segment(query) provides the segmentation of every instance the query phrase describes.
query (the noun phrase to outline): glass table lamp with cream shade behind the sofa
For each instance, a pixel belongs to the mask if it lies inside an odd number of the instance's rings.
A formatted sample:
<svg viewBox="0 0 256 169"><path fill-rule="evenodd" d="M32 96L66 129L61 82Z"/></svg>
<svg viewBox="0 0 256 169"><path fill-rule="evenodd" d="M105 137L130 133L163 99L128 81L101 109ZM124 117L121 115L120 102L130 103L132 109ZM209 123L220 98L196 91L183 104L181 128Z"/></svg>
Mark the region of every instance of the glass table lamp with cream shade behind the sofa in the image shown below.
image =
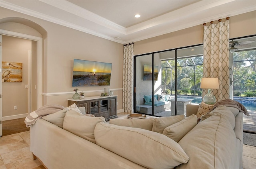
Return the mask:
<svg viewBox="0 0 256 169"><path fill-rule="evenodd" d="M216 98L212 95L211 89L220 88L218 78L202 78L200 88L208 88L208 93L204 96L203 101L206 104L214 104Z"/></svg>

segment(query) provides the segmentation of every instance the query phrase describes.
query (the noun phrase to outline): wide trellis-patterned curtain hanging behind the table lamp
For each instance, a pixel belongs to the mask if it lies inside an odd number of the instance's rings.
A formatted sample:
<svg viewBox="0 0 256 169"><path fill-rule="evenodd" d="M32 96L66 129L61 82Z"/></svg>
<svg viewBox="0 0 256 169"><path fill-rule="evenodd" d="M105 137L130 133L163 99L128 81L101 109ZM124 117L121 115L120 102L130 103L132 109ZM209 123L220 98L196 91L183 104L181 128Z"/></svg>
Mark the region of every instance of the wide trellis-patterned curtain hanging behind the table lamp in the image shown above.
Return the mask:
<svg viewBox="0 0 256 169"><path fill-rule="evenodd" d="M216 102L229 95L229 22L204 24L203 77L218 77L220 89L213 89ZM204 89L203 96L207 93Z"/></svg>

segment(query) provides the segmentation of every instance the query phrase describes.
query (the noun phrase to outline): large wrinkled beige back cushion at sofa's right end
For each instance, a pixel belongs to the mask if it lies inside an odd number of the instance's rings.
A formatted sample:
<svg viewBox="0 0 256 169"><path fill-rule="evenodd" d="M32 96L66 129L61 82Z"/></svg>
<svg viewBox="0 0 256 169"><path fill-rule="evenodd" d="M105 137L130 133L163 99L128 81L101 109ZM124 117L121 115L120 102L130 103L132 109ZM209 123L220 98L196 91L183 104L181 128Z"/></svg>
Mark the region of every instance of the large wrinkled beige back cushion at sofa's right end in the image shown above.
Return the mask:
<svg viewBox="0 0 256 169"><path fill-rule="evenodd" d="M214 114L198 123L179 141L190 157L187 164L176 169L238 168L236 136L226 116Z"/></svg>

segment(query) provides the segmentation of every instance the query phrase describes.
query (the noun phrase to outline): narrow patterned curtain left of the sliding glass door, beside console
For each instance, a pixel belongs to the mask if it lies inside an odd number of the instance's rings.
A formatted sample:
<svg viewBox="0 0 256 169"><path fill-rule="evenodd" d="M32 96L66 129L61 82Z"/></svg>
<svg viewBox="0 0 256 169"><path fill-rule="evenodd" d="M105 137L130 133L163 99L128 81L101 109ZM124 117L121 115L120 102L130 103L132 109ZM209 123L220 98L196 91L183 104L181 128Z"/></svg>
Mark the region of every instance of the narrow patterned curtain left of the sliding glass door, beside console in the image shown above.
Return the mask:
<svg viewBox="0 0 256 169"><path fill-rule="evenodd" d="M133 43L124 45L123 60L123 108L133 113Z"/></svg>

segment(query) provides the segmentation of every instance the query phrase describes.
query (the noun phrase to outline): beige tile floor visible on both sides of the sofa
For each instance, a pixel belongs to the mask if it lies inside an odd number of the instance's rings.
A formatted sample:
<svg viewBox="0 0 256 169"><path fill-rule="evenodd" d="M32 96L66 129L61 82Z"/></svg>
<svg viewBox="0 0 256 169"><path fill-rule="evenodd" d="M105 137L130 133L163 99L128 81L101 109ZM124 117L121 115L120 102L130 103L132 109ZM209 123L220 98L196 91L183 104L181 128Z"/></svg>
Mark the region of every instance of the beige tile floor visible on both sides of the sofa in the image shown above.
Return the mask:
<svg viewBox="0 0 256 169"><path fill-rule="evenodd" d="M3 136L0 138L1 169L45 169L33 160L30 152L30 131ZM243 146L243 169L256 169L256 147Z"/></svg>

